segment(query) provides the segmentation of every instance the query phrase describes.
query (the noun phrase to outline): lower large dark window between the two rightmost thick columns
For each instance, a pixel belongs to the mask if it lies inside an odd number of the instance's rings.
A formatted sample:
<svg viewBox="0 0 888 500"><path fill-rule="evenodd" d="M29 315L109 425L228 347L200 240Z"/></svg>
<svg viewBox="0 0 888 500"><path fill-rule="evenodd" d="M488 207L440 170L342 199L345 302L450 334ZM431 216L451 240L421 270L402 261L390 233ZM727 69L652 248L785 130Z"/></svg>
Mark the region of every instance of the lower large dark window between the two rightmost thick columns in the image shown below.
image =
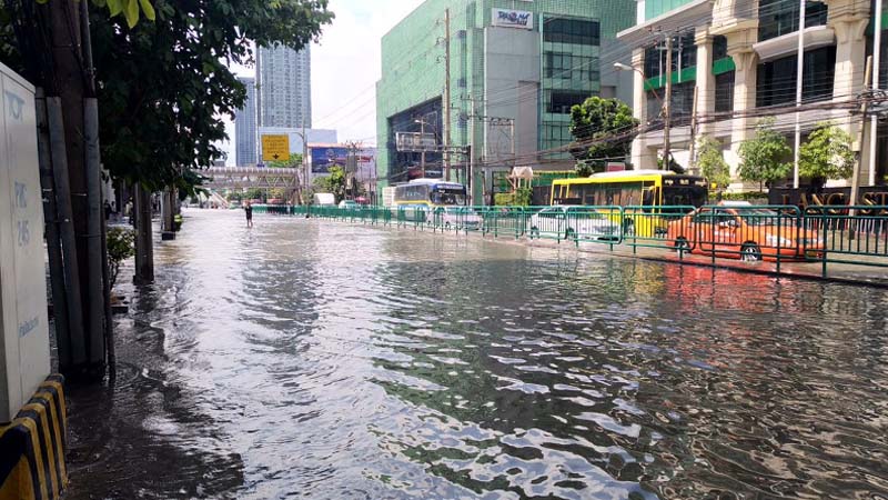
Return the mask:
<svg viewBox="0 0 888 500"><path fill-rule="evenodd" d="M798 58L789 56L758 66L756 106L767 107L795 102ZM833 98L836 74L836 48L805 52L801 99L806 102Z"/></svg>

